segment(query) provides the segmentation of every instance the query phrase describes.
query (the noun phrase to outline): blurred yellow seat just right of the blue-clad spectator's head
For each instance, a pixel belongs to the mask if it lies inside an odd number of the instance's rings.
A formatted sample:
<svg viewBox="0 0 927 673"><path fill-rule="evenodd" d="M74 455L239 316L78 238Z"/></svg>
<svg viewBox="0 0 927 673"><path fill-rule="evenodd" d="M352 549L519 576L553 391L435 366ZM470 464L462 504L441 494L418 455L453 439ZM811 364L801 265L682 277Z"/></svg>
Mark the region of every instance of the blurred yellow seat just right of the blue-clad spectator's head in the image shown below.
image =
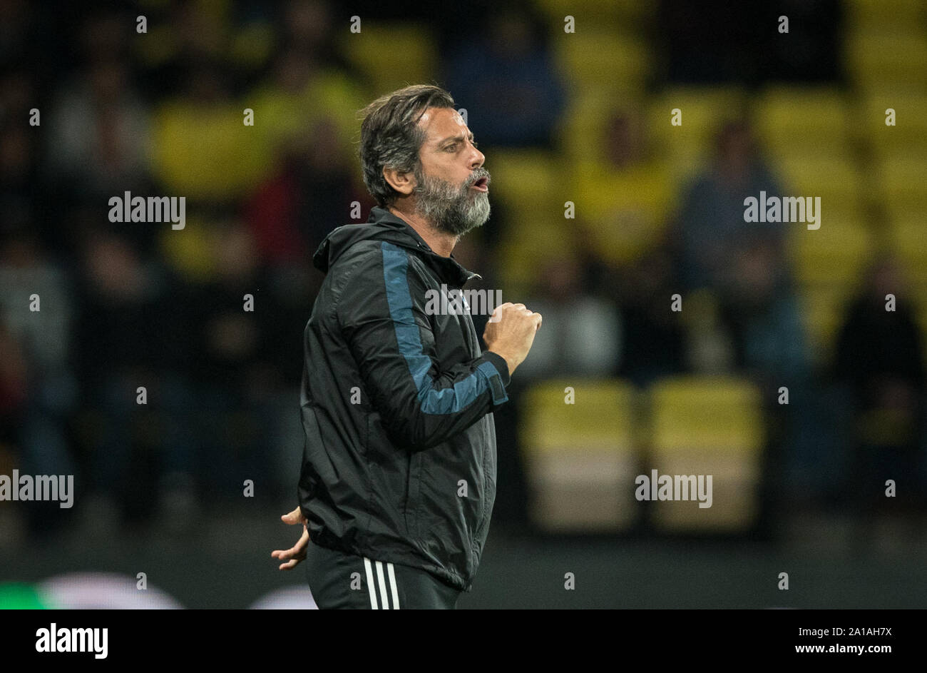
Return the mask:
<svg viewBox="0 0 927 673"><path fill-rule="evenodd" d="M809 154L839 154L850 137L850 112L836 88L774 86L756 97L753 122L768 151L793 147Z"/></svg>

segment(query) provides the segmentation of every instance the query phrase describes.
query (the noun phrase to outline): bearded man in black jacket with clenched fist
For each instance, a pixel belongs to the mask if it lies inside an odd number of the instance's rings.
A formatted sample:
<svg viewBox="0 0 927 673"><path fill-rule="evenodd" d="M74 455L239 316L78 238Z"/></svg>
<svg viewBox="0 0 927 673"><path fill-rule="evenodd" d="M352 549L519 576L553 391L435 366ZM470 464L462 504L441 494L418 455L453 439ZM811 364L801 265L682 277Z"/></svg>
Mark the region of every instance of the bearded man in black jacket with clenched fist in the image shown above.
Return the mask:
<svg viewBox="0 0 927 673"><path fill-rule="evenodd" d="M282 517L303 534L272 555L281 570L307 562L321 608L454 608L489 533L492 410L541 317L498 306L484 353L468 312L428 305L479 278L451 251L489 218L485 157L451 95L407 86L362 113L379 205L313 256L327 276L305 330L299 507Z"/></svg>

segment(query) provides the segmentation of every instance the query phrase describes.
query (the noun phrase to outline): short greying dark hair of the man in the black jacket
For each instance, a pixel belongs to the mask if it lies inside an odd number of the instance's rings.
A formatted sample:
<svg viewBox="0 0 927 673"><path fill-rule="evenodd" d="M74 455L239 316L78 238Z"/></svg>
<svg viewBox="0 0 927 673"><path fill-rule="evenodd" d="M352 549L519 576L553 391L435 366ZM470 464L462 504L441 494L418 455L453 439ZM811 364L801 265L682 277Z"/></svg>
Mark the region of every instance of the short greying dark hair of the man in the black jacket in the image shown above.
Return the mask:
<svg viewBox="0 0 927 673"><path fill-rule="evenodd" d="M377 98L361 110L363 184L381 207L399 197L383 176L384 168L413 173L421 162L418 149L425 132L418 121L428 108L453 108L454 99L440 86L413 84Z"/></svg>

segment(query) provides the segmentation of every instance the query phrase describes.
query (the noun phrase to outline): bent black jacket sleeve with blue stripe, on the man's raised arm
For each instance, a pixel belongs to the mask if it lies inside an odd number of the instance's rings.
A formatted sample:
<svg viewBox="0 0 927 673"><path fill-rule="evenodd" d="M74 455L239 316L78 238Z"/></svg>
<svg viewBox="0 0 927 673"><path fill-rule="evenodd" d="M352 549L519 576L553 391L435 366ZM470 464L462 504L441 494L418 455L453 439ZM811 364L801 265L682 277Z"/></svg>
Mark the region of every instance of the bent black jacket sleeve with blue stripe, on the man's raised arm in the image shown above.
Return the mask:
<svg viewBox="0 0 927 673"><path fill-rule="evenodd" d="M438 367L436 334L425 314L425 283L407 252L381 242L366 252L337 300L341 334L361 372L370 402L398 444L434 447L508 400L502 356Z"/></svg>

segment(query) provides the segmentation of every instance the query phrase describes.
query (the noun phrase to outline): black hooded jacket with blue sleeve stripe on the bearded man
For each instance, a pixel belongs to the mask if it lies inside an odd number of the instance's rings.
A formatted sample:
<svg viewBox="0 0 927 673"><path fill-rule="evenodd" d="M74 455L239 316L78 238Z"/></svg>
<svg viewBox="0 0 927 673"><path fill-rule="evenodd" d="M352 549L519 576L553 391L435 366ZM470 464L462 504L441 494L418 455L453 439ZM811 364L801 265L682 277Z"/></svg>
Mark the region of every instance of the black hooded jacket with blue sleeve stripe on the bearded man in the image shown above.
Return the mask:
<svg viewBox="0 0 927 673"><path fill-rule="evenodd" d="M425 291L480 277L379 207L332 231L313 263L327 275L304 332L298 496L310 537L469 590L509 372L480 350L469 313L429 315Z"/></svg>

